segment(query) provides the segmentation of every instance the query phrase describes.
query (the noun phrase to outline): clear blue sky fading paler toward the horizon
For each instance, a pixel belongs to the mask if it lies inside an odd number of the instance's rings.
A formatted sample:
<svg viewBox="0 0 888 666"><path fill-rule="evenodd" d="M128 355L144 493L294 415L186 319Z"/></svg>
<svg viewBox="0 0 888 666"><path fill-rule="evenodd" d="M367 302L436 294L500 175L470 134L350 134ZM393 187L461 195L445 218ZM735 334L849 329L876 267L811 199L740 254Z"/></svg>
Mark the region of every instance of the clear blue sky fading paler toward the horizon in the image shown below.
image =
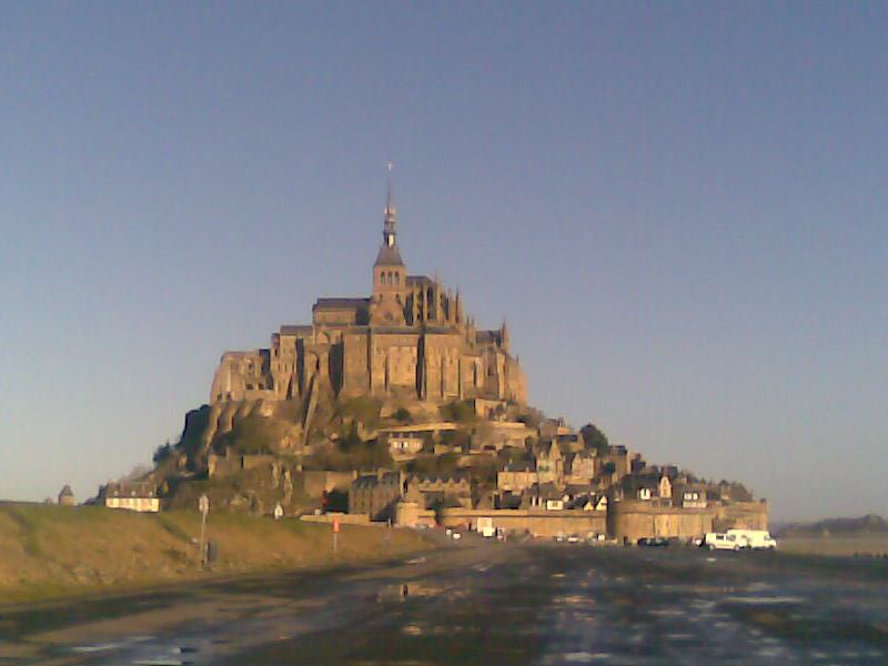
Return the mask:
<svg viewBox="0 0 888 666"><path fill-rule="evenodd" d="M534 403L888 514L888 4L0 8L0 497L148 463L229 349L408 269Z"/></svg>

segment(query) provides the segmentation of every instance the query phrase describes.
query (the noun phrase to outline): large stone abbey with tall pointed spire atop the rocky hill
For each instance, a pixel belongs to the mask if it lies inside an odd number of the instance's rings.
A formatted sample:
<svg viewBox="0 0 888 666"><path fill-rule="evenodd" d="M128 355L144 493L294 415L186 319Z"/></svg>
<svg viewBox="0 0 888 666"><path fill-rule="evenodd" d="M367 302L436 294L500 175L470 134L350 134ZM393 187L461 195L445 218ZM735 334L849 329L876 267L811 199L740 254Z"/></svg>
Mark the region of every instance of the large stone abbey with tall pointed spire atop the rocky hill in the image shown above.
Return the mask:
<svg viewBox="0 0 888 666"><path fill-rule="evenodd" d="M310 325L283 325L270 349L226 352L210 402L290 400L319 392L422 401L526 402L508 330L478 331L454 294L407 275L397 249L391 186L373 294L317 299Z"/></svg>

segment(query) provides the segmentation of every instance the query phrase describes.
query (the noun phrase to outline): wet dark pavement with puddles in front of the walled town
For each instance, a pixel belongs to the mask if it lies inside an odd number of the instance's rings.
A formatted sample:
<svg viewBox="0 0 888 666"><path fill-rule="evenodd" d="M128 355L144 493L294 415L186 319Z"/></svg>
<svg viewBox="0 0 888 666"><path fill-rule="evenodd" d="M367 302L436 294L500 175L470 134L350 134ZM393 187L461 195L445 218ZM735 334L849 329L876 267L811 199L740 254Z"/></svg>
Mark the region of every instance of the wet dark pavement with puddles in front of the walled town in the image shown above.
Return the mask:
<svg viewBox="0 0 888 666"><path fill-rule="evenodd" d="M104 603L0 614L0 664L888 664L886 561L488 544Z"/></svg>

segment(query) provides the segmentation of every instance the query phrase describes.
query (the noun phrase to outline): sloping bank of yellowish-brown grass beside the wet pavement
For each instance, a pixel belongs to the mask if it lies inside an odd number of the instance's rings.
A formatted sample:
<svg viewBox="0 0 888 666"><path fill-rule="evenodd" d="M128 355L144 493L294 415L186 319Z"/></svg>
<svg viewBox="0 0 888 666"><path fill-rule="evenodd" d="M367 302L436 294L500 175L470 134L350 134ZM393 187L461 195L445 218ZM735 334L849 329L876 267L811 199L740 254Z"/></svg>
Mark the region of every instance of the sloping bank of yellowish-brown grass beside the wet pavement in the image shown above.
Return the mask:
<svg viewBox="0 0 888 666"><path fill-rule="evenodd" d="M0 604L193 579L213 574L332 566L431 547L408 531L211 514L212 572L200 572L195 512L133 514L98 506L0 504Z"/></svg>

